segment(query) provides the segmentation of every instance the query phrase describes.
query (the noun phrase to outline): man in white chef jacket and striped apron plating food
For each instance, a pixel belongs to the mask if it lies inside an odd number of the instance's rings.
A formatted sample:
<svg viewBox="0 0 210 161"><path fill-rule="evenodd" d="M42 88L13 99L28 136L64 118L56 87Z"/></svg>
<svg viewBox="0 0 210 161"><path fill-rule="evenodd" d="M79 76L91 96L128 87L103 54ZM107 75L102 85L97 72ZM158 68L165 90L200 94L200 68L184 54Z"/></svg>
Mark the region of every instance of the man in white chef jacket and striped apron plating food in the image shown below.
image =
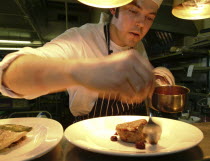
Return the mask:
<svg viewBox="0 0 210 161"><path fill-rule="evenodd" d="M108 23L74 27L42 47L8 54L0 63L1 93L34 99L67 90L76 121L134 114L155 82L174 84L169 70L152 67L141 42L161 3L133 0L111 8Z"/></svg>

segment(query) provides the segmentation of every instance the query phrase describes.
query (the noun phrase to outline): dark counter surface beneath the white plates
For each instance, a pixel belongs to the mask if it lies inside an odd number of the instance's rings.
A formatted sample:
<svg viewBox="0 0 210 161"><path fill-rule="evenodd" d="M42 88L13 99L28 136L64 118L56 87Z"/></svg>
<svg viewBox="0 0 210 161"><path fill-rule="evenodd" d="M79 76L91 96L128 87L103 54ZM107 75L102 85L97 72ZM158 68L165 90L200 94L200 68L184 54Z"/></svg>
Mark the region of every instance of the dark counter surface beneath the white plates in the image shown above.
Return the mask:
<svg viewBox="0 0 210 161"><path fill-rule="evenodd" d="M198 146L191 149L153 157L122 157L89 152L69 143L65 138L50 152L34 161L210 161L210 122L194 123L204 134Z"/></svg>

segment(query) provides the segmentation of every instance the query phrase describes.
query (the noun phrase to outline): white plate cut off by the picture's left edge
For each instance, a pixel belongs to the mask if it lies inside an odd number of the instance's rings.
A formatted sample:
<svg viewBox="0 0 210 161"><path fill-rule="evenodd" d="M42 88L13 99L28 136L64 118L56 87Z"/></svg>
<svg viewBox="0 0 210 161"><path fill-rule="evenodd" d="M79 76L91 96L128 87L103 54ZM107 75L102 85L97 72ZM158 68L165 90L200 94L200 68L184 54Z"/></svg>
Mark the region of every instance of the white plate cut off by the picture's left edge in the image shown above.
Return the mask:
<svg viewBox="0 0 210 161"><path fill-rule="evenodd" d="M0 160L23 161L44 155L54 148L63 137L63 127L53 119L48 118L9 118L0 119L0 124L19 124L31 126L33 129L26 139L8 151L0 153Z"/></svg>

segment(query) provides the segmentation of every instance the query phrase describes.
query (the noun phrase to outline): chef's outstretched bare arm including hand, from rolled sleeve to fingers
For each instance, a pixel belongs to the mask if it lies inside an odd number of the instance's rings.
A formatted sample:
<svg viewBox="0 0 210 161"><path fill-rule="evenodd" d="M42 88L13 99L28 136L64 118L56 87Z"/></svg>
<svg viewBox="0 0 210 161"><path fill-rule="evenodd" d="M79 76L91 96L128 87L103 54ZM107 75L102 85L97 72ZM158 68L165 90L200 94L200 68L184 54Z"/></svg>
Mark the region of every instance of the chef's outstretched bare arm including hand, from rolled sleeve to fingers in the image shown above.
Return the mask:
<svg viewBox="0 0 210 161"><path fill-rule="evenodd" d="M120 95L140 102L154 89L153 67L135 50L104 58L17 58L3 74L3 83L21 95L43 95L71 86Z"/></svg>

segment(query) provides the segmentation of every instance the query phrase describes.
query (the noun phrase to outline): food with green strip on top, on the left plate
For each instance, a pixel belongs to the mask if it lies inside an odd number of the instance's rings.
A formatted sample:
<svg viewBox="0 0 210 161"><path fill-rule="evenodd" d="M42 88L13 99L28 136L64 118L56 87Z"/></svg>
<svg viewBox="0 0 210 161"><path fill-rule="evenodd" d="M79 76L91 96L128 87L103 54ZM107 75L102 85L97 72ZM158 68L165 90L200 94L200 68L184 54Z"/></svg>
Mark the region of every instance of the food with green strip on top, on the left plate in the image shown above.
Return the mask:
<svg viewBox="0 0 210 161"><path fill-rule="evenodd" d="M32 127L23 125L0 125L0 150L9 148L12 144L21 141L31 130Z"/></svg>

